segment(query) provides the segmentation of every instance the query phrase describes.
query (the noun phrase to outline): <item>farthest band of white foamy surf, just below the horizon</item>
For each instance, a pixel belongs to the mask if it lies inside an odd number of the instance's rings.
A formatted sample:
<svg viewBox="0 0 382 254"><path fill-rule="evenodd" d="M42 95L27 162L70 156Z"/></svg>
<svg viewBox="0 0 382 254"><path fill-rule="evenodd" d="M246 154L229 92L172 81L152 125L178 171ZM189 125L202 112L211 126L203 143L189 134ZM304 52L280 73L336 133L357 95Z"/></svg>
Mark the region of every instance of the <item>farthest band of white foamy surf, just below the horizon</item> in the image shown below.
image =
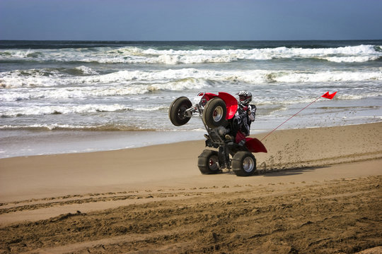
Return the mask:
<svg viewBox="0 0 382 254"><path fill-rule="evenodd" d="M276 47L265 49L197 49L158 50L122 47L110 49L101 47L92 50L79 49L20 49L0 50L0 61L82 61L98 63L229 63L238 60L270 59L325 59L335 62L374 61L382 57L382 52L374 45L332 47L320 49Z"/></svg>

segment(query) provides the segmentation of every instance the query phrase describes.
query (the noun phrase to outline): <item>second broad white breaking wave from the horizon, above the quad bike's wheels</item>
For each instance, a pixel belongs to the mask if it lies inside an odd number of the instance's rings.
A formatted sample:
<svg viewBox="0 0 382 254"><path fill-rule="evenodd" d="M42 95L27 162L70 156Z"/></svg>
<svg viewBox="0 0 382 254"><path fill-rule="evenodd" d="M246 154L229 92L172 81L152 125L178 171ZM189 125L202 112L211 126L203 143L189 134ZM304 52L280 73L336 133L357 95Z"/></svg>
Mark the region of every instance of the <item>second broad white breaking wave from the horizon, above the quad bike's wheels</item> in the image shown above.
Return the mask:
<svg viewBox="0 0 382 254"><path fill-rule="evenodd" d="M156 90L181 91L203 89L222 83L325 83L334 81L373 81L382 80L382 72L376 71L269 71L240 70L218 71L181 68L166 71L117 71L98 74L91 68L79 71L91 75L73 76L59 71L26 70L0 73L0 87L27 88L45 87L45 90L23 90L1 94L2 100L30 98L75 98L88 96L137 95ZM76 88L74 88L76 87Z"/></svg>

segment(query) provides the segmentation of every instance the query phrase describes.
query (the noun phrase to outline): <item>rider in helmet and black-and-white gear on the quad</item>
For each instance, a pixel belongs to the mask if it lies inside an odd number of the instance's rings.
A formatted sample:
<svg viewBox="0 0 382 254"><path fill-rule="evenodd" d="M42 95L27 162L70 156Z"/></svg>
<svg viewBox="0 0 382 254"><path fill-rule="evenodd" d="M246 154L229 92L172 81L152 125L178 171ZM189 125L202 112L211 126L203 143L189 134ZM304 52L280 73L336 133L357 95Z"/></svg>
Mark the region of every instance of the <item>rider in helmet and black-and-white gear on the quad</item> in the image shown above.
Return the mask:
<svg viewBox="0 0 382 254"><path fill-rule="evenodd" d="M242 90L236 95L239 97L238 111L236 111L232 124L232 135L235 143L244 145L245 137L250 135L250 123L255 121L256 106L249 104L252 101L252 94L247 90ZM226 138L230 139L228 135Z"/></svg>

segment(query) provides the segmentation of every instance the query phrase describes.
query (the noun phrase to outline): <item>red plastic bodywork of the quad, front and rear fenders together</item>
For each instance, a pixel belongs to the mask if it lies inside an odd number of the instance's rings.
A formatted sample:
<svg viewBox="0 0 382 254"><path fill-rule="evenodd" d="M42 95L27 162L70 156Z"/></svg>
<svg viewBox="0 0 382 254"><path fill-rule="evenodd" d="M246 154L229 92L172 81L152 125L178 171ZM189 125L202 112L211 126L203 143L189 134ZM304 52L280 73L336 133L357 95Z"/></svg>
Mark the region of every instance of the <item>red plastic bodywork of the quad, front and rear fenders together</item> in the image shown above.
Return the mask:
<svg viewBox="0 0 382 254"><path fill-rule="evenodd" d="M202 93L199 95L203 95ZM219 95L215 95L211 92L204 93L204 97L207 99L212 99L214 97L219 97L224 100L227 107L226 119L232 119L238 110L238 101L235 97L228 94L227 92L219 92ZM245 146L250 152L267 152L267 148L261 143L257 138L245 138Z"/></svg>

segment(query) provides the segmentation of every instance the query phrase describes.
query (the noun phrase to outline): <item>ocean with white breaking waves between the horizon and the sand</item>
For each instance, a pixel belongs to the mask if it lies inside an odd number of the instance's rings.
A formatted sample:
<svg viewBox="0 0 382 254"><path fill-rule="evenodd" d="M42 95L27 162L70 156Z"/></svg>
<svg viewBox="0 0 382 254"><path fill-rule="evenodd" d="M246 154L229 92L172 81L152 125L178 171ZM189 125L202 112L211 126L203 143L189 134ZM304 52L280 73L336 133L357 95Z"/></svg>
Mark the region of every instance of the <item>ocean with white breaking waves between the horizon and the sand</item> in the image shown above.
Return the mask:
<svg viewBox="0 0 382 254"><path fill-rule="evenodd" d="M168 119L197 92L249 90L251 133L382 121L382 40L0 41L0 157L202 139Z"/></svg>

